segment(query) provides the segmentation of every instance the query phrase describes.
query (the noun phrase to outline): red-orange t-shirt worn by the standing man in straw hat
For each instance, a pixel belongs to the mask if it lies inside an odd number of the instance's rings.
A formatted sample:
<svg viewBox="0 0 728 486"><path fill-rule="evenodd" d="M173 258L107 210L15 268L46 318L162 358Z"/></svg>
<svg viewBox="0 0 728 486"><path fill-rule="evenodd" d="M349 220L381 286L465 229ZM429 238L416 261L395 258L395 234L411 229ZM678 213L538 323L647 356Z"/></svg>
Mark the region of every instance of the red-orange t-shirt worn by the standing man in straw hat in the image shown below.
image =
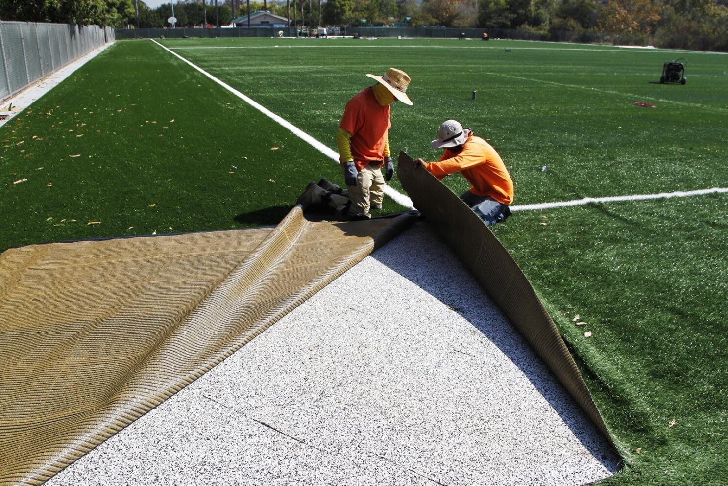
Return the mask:
<svg viewBox="0 0 728 486"><path fill-rule="evenodd" d="M339 128L352 134L349 139L352 157L361 171L369 162L384 159L384 141L387 130L392 128L389 105L381 106L372 88L368 87L349 100Z"/></svg>

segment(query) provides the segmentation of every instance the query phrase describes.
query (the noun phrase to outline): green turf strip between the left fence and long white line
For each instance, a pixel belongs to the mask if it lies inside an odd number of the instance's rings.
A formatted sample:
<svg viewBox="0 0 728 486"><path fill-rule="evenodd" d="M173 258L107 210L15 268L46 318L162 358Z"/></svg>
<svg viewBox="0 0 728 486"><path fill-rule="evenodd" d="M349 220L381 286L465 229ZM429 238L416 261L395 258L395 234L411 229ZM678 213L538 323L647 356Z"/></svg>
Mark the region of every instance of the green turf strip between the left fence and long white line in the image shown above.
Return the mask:
<svg viewBox="0 0 728 486"><path fill-rule="evenodd" d="M336 162L149 41L101 53L0 136L0 251L276 224L307 183L340 176Z"/></svg>

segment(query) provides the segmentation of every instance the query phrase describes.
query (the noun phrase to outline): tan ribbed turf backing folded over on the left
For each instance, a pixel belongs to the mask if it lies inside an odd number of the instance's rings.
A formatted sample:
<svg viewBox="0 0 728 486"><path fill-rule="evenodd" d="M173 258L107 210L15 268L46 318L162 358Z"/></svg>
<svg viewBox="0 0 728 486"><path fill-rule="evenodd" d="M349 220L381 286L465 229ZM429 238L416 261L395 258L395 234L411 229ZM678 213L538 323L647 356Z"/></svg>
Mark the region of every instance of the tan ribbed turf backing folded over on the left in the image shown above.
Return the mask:
<svg viewBox="0 0 728 486"><path fill-rule="evenodd" d="M275 228L5 251L0 485L49 479L414 217L309 222L296 206Z"/></svg>

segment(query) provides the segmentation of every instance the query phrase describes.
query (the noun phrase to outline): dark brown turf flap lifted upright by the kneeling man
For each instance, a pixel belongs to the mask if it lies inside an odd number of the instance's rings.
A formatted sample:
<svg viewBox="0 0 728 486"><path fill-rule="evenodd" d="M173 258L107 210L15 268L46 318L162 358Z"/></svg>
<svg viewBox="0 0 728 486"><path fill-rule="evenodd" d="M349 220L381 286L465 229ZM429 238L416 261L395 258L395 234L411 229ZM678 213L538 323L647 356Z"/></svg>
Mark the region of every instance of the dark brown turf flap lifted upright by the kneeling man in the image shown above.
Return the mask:
<svg viewBox="0 0 728 486"><path fill-rule="evenodd" d="M483 221L435 176L400 152L397 177L415 208L446 240L598 430L614 441L574 358L523 271Z"/></svg>

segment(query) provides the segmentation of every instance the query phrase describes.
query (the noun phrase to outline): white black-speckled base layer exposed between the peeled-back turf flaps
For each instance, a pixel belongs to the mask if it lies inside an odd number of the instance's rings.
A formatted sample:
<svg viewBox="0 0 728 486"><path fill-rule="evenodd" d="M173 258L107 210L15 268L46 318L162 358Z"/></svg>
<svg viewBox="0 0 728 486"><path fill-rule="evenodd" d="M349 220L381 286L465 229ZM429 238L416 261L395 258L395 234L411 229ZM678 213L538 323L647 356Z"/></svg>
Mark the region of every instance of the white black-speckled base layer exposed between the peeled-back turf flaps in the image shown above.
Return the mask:
<svg viewBox="0 0 728 486"><path fill-rule="evenodd" d="M47 485L565 486L618 460L418 223Z"/></svg>

